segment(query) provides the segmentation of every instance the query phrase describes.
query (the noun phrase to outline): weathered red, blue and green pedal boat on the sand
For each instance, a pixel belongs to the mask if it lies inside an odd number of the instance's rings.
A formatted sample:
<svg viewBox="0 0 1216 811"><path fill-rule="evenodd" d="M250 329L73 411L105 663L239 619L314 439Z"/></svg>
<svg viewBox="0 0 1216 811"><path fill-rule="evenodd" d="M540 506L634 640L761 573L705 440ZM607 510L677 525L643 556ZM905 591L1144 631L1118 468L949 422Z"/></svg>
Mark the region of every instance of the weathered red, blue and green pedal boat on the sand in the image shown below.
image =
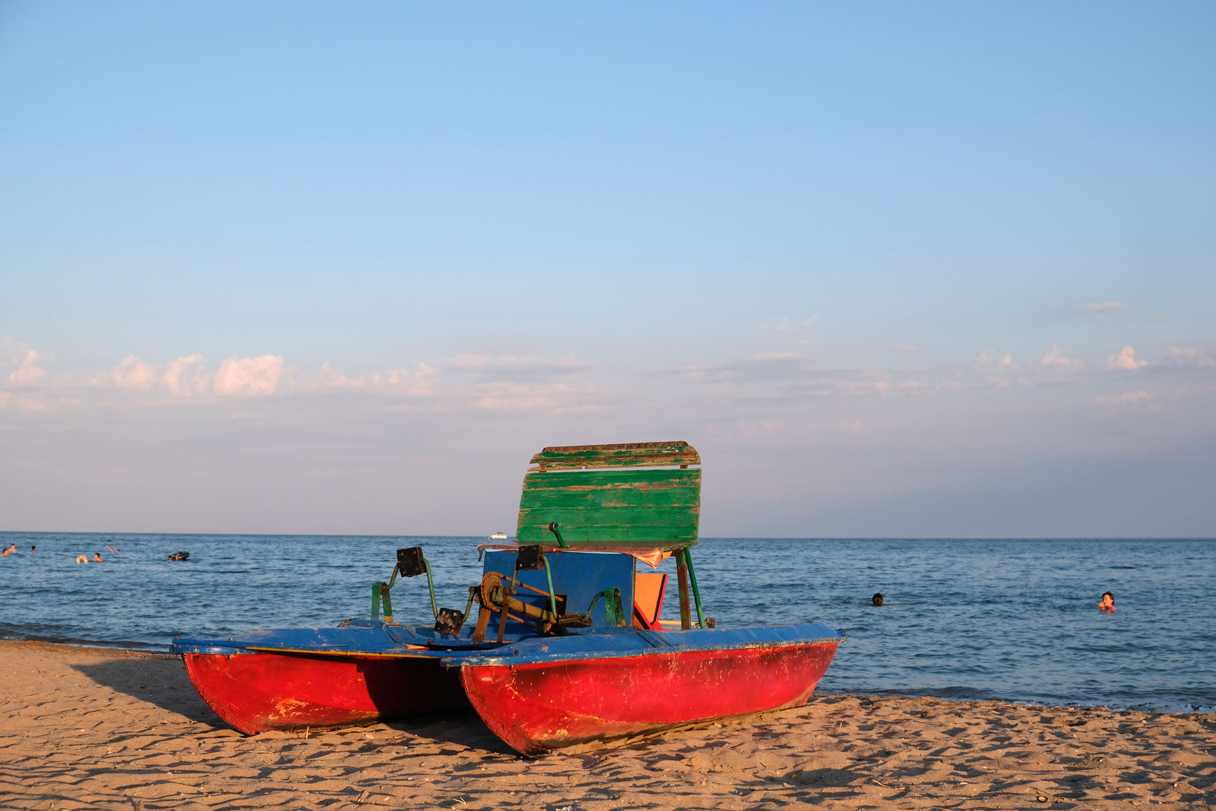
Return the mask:
<svg viewBox="0 0 1216 811"><path fill-rule="evenodd" d="M841 631L818 623L720 629L705 616L691 556L700 511L694 449L546 447L531 461L517 542L482 545L483 578L463 612L438 608L430 565L412 547L398 551L388 582L372 586L370 620L178 638L170 651L207 704L249 734L472 708L524 755L810 698ZM659 619L669 574L654 569L669 558L679 623ZM420 574L434 626L393 621L398 575Z"/></svg>

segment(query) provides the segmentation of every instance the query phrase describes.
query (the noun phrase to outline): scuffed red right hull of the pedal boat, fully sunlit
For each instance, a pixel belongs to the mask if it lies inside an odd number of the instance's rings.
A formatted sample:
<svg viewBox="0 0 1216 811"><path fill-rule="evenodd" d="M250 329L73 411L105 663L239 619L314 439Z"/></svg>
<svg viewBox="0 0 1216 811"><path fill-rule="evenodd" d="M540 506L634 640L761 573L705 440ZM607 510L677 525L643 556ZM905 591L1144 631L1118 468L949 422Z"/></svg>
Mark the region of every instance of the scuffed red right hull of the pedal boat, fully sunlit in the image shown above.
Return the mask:
<svg viewBox="0 0 1216 811"><path fill-rule="evenodd" d="M525 755L806 703L838 642L466 665L490 730Z"/></svg>

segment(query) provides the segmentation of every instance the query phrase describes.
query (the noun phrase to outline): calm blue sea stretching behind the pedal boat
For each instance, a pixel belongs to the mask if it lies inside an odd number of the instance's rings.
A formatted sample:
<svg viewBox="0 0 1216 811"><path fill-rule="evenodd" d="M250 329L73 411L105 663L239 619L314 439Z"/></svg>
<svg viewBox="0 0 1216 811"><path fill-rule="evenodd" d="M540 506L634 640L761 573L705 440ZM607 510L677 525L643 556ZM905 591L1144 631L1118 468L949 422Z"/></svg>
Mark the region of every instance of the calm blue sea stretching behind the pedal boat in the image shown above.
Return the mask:
<svg viewBox="0 0 1216 811"><path fill-rule="evenodd" d="M334 625L365 616L371 584L415 545L440 606L463 609L484 540L0 533L18 550L0 557L0 637L163 649L176 635ZM190 559L169 562L179 550ZM74 562L98 551L102 563ZM848 633L820 692L1216 710L1216 540L705 539L693 562L719 626ZM1114 614L1097 609L1108 590ZM433 621L420 580L393 604Z"/></svg>

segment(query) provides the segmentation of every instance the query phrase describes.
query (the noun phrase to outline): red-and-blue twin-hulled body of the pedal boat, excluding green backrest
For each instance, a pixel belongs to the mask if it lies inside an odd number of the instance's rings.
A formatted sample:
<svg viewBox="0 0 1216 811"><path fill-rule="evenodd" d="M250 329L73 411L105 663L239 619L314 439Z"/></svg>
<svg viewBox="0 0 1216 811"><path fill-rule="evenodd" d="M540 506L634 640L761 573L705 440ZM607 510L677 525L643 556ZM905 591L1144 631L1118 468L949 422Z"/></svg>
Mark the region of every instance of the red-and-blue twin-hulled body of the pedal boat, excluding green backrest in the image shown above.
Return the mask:
<svg viewBox="0 0 1216 811"><path fill-rule="evenodd" d="M473 618L455 635L426 625L350 619L336 627L179 637L170 651L182 655L212 709L243 732L473 709L510 745L535 754L564 745L564 739L550 737L552 730L612 737L805 702L844 640L843 631L820 623L687 630L654 623L648 629L635 624L630 610L637 568L630 554L548 553L547 570L517 571L516 561L516 552L486 552L482 593L497 582L495 575L501 581L514 578L512 595L534 612L529 621L537 621L553 602L563 607L563 616L579 621L551 624L542 633L520 620L524 608L511 609L518 614L491 613L483 603L486 621L480 633ZM749 704L754 680L770 676L777 689ZM693 683L717 687L687 691ZM634 685L635 692L620 694L621 685ZM642 694L646 700L671 698L642 706ZM565 697L557 715L553 695ZM632 719L631 713L644 717Z"/></svg>

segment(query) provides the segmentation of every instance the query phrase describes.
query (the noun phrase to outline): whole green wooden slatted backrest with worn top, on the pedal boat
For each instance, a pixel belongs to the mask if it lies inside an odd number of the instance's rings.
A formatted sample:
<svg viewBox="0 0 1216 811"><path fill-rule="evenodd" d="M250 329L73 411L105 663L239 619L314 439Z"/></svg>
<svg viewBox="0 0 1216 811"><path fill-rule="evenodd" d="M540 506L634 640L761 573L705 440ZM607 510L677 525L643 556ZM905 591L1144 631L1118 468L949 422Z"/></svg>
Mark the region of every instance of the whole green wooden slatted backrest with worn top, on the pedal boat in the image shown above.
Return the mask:
<svg viewBox="0 0 1216 811"><path fill-rule="evenodd" d="M546 447L531 458L519 497L520 544L556 544L557 522L572 547L697 542L700 464L688 443Z"/></svg>

